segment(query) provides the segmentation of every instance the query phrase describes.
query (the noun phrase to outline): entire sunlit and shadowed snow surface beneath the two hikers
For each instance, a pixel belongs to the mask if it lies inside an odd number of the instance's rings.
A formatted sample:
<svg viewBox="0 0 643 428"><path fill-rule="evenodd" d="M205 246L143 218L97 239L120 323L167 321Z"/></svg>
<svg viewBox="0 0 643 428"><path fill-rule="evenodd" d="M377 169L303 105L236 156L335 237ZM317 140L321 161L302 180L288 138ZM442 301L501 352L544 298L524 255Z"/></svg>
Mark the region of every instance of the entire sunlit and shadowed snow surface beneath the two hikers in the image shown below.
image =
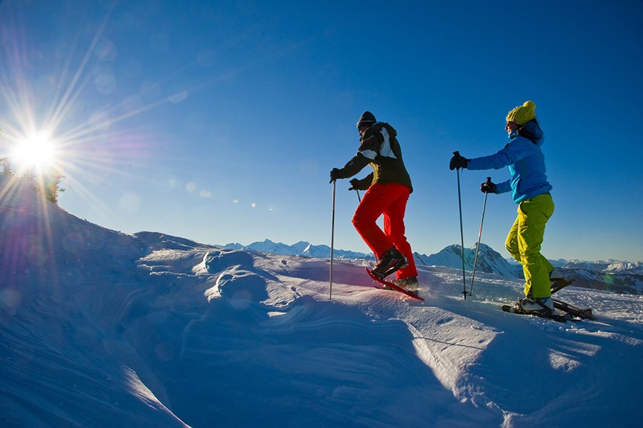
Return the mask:
<svg viewBox="0 0 643 428"><path fill-rule="evenodd" d="M643 297L568 287L595 321L502 312L517 278L122 234L0 176L3 427L634 427ZM211 227L211 225L204 225ZM467 289L471 272L467 272Z"/></svg>

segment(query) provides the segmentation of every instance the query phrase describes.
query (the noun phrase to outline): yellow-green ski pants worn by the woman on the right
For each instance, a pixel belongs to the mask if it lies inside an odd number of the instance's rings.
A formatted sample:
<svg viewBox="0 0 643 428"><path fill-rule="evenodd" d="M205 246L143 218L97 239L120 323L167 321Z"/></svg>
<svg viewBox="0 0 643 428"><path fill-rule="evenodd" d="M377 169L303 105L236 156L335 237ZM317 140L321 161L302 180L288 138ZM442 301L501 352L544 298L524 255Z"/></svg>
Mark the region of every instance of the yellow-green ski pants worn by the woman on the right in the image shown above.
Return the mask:
<svg viewBox="0 0 643 428"><path fill-rule="evenodd" d="M539 194L518 205L518 217L509 230L505 247L522 264L524 295L550 297L549 272L554 266L542 254L540 247L544 228L554 214L554 200L550 194Z"/></svg>

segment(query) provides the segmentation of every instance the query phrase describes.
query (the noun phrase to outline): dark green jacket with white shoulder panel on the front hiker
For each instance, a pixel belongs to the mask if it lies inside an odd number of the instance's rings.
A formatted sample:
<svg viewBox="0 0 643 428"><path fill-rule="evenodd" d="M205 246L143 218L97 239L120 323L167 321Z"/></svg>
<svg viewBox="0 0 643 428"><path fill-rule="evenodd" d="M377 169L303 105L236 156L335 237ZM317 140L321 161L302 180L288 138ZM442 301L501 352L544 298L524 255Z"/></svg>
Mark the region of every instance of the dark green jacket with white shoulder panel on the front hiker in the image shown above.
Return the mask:
<svg viewBox="0 0 643 428"><path fill-rule="evenodd" d="M413 191L411 177L402 160L402 149L393 126L377 122L360 139L359 149L353 159L340 170L343 179L354 176L371 165L373 172L359 180L356 189L366 190L372 184L403 184Z"/></svg>

